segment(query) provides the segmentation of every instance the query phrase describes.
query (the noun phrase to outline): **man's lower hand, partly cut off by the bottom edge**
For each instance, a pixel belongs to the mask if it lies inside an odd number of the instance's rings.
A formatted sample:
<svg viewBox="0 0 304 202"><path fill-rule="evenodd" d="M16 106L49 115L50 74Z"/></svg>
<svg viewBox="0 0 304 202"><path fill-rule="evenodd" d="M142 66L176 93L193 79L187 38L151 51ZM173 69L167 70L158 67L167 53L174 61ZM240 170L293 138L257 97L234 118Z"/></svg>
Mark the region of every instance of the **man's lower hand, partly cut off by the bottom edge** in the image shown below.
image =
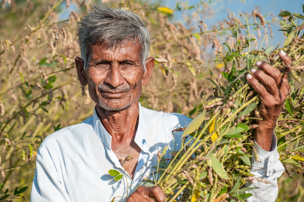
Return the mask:
<svg viewBox="0 0 304 202"><path fill-rule="evenodd" d="M151 197L155 198L153 200ZM166 199L163 190L160 187L138 187L138 189L132 193L126 202L164 202Z"/></svg>

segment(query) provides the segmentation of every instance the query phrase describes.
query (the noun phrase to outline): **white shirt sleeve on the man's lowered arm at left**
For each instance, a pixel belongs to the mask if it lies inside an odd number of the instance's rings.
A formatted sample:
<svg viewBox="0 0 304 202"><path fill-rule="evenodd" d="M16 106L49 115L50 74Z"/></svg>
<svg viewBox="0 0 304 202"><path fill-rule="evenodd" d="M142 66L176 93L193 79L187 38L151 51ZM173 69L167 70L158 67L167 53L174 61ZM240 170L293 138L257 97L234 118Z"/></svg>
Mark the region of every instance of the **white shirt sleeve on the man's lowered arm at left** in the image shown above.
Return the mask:
<svg viewBox="0 0 304 202"><path fill-rule="evenodd" d="M61 183L49 152L40 146L37 152L36 170L31 191L31 202L71 202Z"/></svg>

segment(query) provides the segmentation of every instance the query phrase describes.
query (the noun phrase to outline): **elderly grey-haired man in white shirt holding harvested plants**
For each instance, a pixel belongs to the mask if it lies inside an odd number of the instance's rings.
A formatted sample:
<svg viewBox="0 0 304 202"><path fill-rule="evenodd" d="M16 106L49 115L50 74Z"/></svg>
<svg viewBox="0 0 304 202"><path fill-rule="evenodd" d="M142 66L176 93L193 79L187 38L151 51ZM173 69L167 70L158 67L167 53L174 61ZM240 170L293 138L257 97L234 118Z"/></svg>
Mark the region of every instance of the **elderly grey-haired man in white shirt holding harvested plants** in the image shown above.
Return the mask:
<svg viewBox="0 0 304 202"><path fill-rule="evenodd" d="M75 58L76 69L96 104L94 115L42 142L31 201L164 201L159 187L136 188L142 178L152 177L158 151L168 144L169 150L180 148L181 132L172 141L171 131L191 119L146 109L138 101L154 68L154 58L148 57L149 31L132 12L94 5L78 22L78 36L81 58ZM284 52L280 56L287 59ZM256 66L260 70L251 70L247 80L261 97L263 121L257 122L254 147L259 160L252 159L251 172L271 184L252 184L260 188L250 190L253 196L248 201L275 201L276 178L284 168L273 129L288 94L288 81L267 63ZM110 169L123 178L113 180Z"/></svg>

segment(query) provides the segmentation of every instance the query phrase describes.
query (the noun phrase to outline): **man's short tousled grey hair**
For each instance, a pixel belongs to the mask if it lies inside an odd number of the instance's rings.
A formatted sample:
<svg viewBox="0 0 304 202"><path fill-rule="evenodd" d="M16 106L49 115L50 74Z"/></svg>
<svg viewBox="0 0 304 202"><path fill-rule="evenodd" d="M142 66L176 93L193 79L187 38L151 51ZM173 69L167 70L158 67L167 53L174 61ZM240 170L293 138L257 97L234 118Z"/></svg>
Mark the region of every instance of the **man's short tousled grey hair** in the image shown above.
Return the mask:
<svg viewBox="0 0 304 202"><path fill-rule="evenodd" d="M102 4L92 5L92 10L77 23L77 31L84 67L88 64L90 44L104 45L109 49L134 40L141 45L141 60L146 71L150 34L145 23L133 12Z"/></svg>

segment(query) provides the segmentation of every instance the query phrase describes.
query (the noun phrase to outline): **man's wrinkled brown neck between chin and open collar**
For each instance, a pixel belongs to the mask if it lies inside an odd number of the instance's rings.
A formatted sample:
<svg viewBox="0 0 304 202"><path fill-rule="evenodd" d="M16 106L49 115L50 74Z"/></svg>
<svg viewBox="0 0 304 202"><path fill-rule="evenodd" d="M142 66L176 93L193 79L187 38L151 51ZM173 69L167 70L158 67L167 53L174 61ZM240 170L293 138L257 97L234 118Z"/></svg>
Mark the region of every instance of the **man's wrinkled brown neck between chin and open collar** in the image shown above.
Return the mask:
<svg viewBox="0 0 304 202"><path fill-rule="evenodd" d="M121 111L107 111L96 105L96 112L106 131L115 142L123 142L134 138L139 117L139 102Z"/></svg>

